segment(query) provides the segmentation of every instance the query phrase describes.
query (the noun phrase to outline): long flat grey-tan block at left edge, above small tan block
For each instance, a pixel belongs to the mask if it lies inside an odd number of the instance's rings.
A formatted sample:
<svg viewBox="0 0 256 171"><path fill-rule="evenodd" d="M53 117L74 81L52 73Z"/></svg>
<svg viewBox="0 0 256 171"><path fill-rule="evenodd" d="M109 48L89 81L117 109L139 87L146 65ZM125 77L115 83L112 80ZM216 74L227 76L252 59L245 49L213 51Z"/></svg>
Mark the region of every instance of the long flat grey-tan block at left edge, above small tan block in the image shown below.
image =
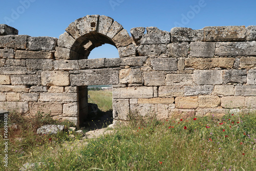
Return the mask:
<svg viewBox="0 0 256 171"><path fill-rule="evenodd" d="M17 74L27 74L27 67L19 66L9 66L9 67L0 67L0 74L3 75L17 75Z"/></svg>

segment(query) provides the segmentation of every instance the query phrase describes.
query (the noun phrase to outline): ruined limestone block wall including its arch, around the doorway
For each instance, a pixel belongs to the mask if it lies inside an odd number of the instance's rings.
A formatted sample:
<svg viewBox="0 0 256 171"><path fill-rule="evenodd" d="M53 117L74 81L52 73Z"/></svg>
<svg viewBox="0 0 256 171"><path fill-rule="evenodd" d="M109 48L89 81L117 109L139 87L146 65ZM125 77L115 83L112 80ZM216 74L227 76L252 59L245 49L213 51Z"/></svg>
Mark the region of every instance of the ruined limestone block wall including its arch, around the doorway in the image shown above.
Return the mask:
<svg viewBox="0 0 256 171"><path fill-rule="evenodd" d="M131 29L88 15L53 37L0 25L0 109L79 124L87 86L113 84L113 116L159 119L256 109L256 26ZM103 44L120 58L87 59ZM104 56L102 56L104 57Z"/></svg>

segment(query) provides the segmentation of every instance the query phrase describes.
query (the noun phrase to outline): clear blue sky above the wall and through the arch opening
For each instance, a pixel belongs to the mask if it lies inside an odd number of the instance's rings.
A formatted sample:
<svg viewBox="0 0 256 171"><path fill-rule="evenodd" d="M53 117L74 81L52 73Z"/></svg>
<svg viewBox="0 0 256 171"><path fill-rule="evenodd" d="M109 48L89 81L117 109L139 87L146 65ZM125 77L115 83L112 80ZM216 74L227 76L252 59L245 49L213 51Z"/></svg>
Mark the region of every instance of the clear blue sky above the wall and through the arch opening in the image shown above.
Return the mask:
<svg viewBox="0 0 256 171"><path fill-rule="evenodd" d="M28 3L29 2L29 3ZM19 34L59 37L75 19L106 15L130 33L134 27L202 29L205 26L256 25L255 0L11 0L1 1L0 24ZM115 47L95 48L90 58L116 57Z"/></svg>

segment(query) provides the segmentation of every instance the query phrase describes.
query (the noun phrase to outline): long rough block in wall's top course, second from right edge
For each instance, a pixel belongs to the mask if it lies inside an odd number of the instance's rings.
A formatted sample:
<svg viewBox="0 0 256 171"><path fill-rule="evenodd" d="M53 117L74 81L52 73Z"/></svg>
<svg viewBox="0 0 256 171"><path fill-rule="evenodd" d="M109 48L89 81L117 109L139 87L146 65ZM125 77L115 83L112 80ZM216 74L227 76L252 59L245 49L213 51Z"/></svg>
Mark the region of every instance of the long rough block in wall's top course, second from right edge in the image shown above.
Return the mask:
<svg viewBox="0 0 256 171"><path fill-rule="evenodd" d="M205 27L204 41L242 41L245 33L245 26Z"/></svg>

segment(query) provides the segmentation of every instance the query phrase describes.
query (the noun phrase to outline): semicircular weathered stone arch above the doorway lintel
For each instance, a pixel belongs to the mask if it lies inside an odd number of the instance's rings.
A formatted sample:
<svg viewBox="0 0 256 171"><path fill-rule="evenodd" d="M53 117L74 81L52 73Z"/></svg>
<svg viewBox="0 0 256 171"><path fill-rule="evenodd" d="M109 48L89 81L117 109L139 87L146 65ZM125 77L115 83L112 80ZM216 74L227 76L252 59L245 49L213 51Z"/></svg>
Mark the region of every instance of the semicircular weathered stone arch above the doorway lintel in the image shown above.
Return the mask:
<svg viewBox="0 0 256 171"><path fill-rule="evenodd" d="M118 49L119 57L136 56L132 38L122 25L104 15L87 15L76 19L61 34L56 59L87 59L90 52L103 44Z"/></svg>

